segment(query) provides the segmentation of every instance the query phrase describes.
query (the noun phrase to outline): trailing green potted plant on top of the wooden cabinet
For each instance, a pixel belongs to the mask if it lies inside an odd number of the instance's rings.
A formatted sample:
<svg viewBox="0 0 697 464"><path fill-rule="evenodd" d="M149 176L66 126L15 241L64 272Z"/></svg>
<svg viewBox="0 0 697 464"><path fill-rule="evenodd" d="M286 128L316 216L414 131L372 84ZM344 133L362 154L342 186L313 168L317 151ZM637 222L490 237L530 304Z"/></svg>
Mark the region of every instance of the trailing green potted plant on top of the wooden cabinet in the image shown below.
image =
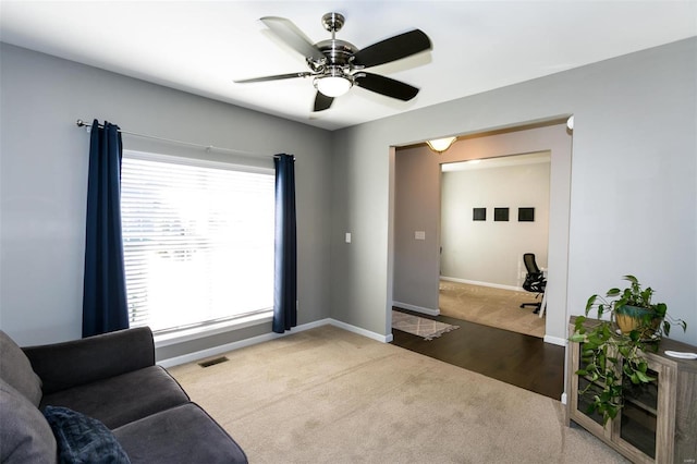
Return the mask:
<svg viewBox="0 0 697 464"><path fill-rule="evenodd" d="M582 343L583 364L576 374L589 380L579 394L589 399L587 413L600 414L603 425L622 410L626 388L656 381L644 352L658 351L661 337L668 337L671 326L687 330L685 321L668 315L664 303L652 303L651 288L643 288L634 276L624 279L628 288L613 288L604 296L588 298L585 316L576 318L570 338ZM598 320L588 321L594 309Z"/></svg>

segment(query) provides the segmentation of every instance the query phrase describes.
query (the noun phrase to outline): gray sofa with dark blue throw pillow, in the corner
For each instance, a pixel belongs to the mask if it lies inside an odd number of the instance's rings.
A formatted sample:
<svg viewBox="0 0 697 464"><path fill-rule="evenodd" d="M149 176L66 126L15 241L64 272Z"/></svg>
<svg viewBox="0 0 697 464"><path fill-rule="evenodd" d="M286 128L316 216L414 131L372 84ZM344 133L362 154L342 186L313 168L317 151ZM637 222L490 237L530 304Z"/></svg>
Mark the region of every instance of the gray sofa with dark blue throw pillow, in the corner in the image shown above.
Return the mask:
<svg viewBox="0 0 697 464"><path fill-rule="evenodd" d="M0 331L0 462L246 463L148 328L21 349Z"/></svg>

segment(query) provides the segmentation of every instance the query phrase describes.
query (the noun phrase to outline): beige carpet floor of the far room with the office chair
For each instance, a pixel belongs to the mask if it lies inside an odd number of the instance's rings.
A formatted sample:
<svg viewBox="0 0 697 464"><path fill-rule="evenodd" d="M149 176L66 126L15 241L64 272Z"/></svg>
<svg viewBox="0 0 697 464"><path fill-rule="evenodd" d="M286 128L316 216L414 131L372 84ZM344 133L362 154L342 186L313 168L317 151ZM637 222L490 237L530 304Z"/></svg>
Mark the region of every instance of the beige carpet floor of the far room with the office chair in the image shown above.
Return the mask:
<svg viewBox="0 0 697 464"><path fill-rule="evenodd" d="M535 294L468 283L440 281L440 314L533 337L545 337L545 318L533 314ZM537 300L539 301L539 300Z"/></svg>

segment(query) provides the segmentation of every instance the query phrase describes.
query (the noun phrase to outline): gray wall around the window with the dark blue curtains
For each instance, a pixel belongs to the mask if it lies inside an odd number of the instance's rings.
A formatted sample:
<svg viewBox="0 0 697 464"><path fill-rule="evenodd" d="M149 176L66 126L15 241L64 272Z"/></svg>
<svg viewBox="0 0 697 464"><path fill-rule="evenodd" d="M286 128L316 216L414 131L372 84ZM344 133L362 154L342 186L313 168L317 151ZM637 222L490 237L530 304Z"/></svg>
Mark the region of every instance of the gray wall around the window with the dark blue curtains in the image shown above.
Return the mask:
<svg viewBox="0 0 697 464"><path fill-rule="evenodd" d="M271 155L294 154L298 322L329 316L331 133L5 44L1 53L2 330L21 344L81 337L89 135L75 120L93 118L126 131L262 154L252 162L269 167ZM124 147L192 154L125 135ZM167 353L270 331L266 323L181 350L168 346Z"/></svg>

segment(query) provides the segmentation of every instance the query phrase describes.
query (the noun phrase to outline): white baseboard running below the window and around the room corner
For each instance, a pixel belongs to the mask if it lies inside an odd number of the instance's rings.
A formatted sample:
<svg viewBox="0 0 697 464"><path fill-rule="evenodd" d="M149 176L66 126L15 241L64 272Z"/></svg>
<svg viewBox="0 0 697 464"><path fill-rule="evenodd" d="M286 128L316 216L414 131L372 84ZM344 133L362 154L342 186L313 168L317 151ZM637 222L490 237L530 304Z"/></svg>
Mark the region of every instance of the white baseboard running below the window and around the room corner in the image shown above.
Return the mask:
<svg viewBox="0 0 697 464"><path fill-rule="evenodd" d="M288 337L293 333L303 332L305 330L314 329L316 327L321 327L321 326L339 327L340 329L344 329L350 332L357 333L359 335L367 337L369 339L377 340L382 343L390 343L392 341L392 333L390 333L389 335L381 335L379 333L371 332L369 330L365 330L359 327L352 326L346 322L342 322L340 320L327 318L327 319L320 319L320 320L316 320L308 323L303 323L301 326L294 327L292 330L285 333L274 333L274 332L264 333L261 335L252 337L250 339L240 340L232 343L225 343L223 345L218 345L207 350L187 353L181 356L169 357L167 359L160 359L157 362L157 364L159 366L167 368L167 367L179 366L181 364L194 363L196 361L205 359L207 357L217 356L219 354L228 353L245 346L256 345L257 343L268 342L274 339L279 339L281 337Z"/></svg>

